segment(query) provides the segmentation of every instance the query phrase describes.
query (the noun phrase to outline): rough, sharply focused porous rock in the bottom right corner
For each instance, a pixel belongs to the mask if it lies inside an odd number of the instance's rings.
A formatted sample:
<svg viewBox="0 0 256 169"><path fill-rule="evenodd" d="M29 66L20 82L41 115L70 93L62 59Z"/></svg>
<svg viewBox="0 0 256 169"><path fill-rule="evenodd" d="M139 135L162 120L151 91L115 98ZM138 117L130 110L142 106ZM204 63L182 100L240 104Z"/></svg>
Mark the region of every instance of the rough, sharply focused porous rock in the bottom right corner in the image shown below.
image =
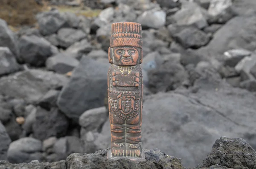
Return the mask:
<svg viewBox="0 0 256 169"><path fill-rule="evenodd" d="M255 150L244 139L221 137L215 141L212 152L197 168L218 164L233 169L255 169L255 157Z"/></svg>

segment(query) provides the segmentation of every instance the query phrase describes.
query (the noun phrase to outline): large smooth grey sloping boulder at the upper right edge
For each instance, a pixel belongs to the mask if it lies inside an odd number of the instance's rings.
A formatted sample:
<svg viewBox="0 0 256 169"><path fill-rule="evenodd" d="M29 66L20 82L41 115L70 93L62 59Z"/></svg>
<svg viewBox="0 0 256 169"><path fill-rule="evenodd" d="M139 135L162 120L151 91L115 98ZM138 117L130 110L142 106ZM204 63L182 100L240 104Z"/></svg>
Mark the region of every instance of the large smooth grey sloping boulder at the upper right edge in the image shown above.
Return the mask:
<svg viewBox="0 0 256 169"><path fill-rule="evenodd" d="M223 54L229 49L246 49L253 51L256 48L256 16L239 16L229 20L218 31L206 47L198 51L206 56ZM221 59L221 58L220 58Z"/></svg>

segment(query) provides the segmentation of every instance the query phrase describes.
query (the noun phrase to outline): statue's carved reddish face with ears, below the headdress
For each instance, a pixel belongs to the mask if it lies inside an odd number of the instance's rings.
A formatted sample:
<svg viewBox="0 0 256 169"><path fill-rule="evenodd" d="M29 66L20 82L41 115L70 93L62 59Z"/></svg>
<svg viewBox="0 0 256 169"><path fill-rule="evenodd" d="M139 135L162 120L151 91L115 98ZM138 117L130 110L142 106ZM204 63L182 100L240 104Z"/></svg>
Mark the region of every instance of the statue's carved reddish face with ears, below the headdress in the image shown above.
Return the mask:
<svg viewBox="0 0 256 169"><path fill-rule="evenodd" d="M119 66L134 66L139 64L140 52L134 47L111 48L113 64Z"/></svg>

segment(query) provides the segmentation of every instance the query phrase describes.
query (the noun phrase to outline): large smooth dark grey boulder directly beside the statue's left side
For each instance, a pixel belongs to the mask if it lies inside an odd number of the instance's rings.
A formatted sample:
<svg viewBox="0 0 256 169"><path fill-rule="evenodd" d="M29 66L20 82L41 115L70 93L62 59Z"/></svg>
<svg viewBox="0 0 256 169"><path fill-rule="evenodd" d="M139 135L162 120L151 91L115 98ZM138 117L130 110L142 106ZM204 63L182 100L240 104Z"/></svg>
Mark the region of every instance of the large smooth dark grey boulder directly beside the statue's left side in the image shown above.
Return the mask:
<svg viewBox="0 0 256 169"><path fill-rule="evenodd" d="M109 63L97 62L84 56L70 81L63 87L57 105L67 117L79 120L86 110L104 105Z"/></svg>

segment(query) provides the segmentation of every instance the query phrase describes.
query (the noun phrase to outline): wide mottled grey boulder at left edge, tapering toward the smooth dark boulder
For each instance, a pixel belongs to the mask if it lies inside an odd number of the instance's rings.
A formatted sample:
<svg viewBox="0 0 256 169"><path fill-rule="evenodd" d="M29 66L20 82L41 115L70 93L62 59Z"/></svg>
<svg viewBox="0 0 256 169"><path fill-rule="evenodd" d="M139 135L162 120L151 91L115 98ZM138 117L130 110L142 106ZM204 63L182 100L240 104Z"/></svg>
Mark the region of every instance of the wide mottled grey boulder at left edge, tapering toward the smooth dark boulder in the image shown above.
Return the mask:
<svg viewBox="0 0 256 169"><path fill-rule="evenodd" d="M64 86L68 78L64 75L45 70L30 69L17 72L12 76L0 78L0 93L36 102L50 89Z"/></svg>

